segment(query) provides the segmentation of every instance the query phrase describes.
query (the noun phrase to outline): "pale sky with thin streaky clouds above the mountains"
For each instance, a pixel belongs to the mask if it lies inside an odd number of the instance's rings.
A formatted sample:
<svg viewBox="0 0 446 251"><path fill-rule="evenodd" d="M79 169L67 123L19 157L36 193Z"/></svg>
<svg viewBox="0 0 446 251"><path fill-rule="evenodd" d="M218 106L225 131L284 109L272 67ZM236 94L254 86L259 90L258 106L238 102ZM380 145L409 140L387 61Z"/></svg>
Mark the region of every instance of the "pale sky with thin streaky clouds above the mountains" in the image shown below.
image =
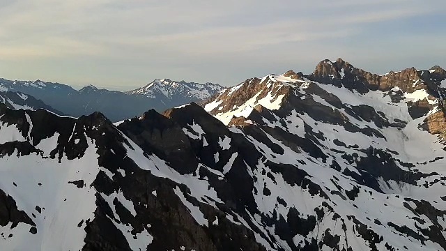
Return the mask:
<svg viewBox="0 0 446 251"><path fill-rule="evenodd" d="M445 0L0 0L0 18L0 77L74 87L446 68Z"/></svg>

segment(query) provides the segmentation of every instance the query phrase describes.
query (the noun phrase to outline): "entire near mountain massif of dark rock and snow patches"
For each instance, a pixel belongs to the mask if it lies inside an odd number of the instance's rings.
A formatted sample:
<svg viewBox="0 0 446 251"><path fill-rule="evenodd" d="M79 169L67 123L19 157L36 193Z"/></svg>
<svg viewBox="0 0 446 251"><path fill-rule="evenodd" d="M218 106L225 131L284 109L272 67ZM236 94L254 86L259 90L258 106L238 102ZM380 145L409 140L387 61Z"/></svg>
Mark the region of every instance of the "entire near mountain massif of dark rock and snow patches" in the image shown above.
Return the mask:
<svg viewBox="0 0 446 251"><path fill-rule="evenodd" d="M119 123L0 105L0 247L446 250L445 87L337 59Z"/></svg>

